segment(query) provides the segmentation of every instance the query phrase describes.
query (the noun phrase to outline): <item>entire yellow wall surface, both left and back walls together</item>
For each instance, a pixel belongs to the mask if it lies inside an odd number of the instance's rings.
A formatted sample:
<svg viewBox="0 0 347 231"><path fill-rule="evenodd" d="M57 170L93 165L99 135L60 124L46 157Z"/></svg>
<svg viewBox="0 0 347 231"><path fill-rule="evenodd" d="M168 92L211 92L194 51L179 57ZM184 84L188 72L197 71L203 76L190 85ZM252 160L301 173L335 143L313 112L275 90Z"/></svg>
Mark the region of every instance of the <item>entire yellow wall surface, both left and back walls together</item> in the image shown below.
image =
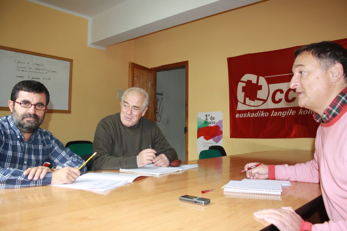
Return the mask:
<svg viewBox="0 0 347 231"><path fill-rule="evenodd" d="M229 138L227 57L346 38L345 9L346 0L270 0L102 51L86 46L87 19L24 0L0 0L0 45L74 60L71 114L48 113L42 125L64 144L93 140L99 120L119 112L116 92L128 86L129 61L154 67L188 60L189 160L198 158L198 112L223 112L228 154L313 150L313 139Z"/></svg>

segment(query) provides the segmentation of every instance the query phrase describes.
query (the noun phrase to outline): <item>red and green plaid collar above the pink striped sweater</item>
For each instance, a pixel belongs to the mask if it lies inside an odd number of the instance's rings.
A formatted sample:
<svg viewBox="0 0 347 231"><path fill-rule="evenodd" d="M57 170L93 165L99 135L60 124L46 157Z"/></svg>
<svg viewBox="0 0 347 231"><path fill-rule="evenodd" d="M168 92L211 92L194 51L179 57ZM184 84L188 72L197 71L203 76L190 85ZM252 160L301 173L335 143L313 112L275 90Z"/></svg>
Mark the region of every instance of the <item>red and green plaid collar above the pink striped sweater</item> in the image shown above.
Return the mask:
<svg viewBox="0 0 347 231"><path fill-rule="evenodd" d="M318 115L317 113L313 113L313 118L318 123L328 123L333 118L335 118L347 105L347 88L344 88L334 100L332 100L331 104L325 109L323 113L323 117Z"/></svg>

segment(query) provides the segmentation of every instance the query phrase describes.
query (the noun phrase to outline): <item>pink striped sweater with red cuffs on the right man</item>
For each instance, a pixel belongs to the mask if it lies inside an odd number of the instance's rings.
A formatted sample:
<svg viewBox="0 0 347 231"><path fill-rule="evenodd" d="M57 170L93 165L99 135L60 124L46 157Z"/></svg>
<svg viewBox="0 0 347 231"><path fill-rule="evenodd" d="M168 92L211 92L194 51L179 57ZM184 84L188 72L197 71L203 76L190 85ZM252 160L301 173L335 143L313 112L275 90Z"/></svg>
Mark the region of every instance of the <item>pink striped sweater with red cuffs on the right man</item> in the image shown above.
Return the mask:
<svg viewBox="0 0 347 231"><path fill-rule="evenodd" d="M314 159L293 166L277 165L279 180L320 183L330 221L312 225L312 230L347 230L347 107L330 122L320 124ZM269 166L269 179L273 166Z"/></svg>

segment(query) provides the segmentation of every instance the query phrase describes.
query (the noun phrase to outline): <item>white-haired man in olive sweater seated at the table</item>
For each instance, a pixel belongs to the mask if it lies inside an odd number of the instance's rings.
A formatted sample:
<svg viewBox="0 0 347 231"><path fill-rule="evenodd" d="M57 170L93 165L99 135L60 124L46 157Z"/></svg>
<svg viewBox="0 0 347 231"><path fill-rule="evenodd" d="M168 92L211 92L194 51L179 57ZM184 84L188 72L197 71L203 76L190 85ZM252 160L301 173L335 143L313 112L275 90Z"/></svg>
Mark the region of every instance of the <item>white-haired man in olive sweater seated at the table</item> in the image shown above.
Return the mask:
<svg viewBox="0 0 347 231"><path fill-rule="evenodd" d="M149 97L142 88L129 88L121 98L120 113L107 116L96 127L93 152L94 170L138 168L153 163L168 167L177 153L159 127L142 118Z"/></svg>

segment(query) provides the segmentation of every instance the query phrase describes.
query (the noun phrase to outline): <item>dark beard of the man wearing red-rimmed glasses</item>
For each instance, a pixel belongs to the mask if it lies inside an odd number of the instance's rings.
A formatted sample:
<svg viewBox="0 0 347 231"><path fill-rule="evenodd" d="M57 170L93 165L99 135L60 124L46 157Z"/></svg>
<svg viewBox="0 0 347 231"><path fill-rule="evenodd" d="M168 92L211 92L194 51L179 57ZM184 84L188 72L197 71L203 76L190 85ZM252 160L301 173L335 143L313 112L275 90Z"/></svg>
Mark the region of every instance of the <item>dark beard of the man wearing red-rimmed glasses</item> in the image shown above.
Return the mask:
<svg viewBox="0 0 347 231"><path fill-rule="evenodd" d="M17 114L17 112L15 110L13 110L12 116L13 116L13 120L14 120L16 126L18 127L19 131L21 131L22 133L33 133L33 132L35 132L35 130L38 127L40 127L45 115L43 115L43 117L39 117L35 114L26 113L23 116L20 116ZM30 121L25 122L24 121L25 117L35 118L36 121L30 120Z"/></svg>

